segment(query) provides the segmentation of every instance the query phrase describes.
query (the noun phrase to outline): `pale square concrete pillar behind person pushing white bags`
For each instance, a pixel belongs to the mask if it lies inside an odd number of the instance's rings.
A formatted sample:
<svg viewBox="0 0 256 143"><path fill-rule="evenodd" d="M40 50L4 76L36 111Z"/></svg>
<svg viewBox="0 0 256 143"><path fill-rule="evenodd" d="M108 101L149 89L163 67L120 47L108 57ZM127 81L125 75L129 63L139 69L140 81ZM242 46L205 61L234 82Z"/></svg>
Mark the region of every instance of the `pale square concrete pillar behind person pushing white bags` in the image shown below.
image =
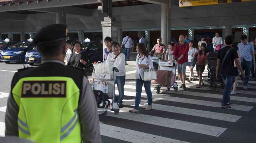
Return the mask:
<svg viewBox="0 0 256 143"><path fill-rule="evenodd" d="M105 17L104 21L101 22L102 25L102 39L105 39L107 36L111 37L113 41L118 41L118 25L116 22L112 21L111 18ZM120 32L120 31L119 31ZM106 47L103 42L103 48ZM104 50L102 51L104 52ZM102 53L103 54L103 53ZM102 59L104 57L102 56Z"/></svg>

